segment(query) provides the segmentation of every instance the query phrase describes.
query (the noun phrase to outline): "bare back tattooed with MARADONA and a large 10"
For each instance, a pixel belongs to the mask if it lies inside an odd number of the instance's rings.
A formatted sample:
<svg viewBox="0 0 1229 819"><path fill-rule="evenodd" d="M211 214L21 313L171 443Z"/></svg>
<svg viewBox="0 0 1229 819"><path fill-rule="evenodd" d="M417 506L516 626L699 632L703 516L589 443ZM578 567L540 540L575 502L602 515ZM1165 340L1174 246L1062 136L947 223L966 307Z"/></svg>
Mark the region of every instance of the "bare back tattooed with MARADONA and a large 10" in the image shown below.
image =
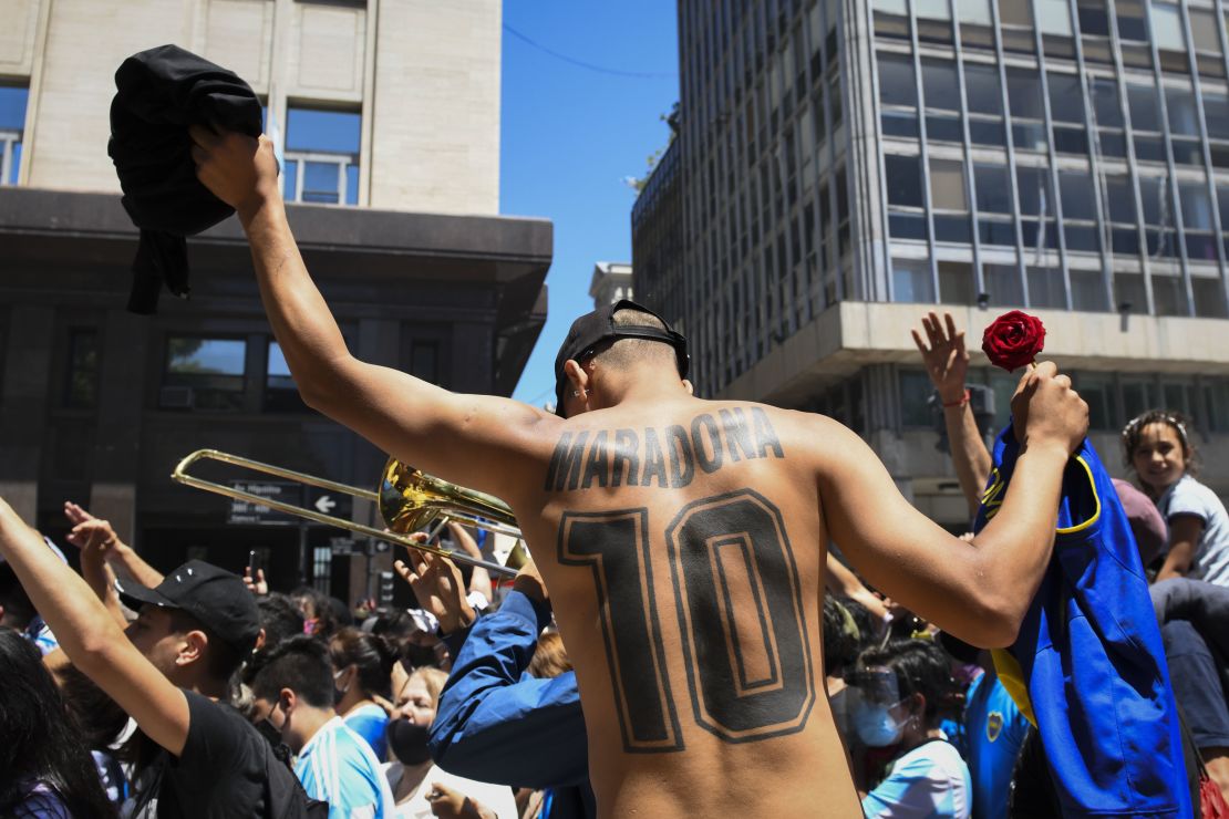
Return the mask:
<svg viewBox="0 0 1229 819"><path fill-rule="evenodd" d="M605 815L860 815L822 684L827 535L804 420L680 398L560 429L521 517Z"/></svg>

